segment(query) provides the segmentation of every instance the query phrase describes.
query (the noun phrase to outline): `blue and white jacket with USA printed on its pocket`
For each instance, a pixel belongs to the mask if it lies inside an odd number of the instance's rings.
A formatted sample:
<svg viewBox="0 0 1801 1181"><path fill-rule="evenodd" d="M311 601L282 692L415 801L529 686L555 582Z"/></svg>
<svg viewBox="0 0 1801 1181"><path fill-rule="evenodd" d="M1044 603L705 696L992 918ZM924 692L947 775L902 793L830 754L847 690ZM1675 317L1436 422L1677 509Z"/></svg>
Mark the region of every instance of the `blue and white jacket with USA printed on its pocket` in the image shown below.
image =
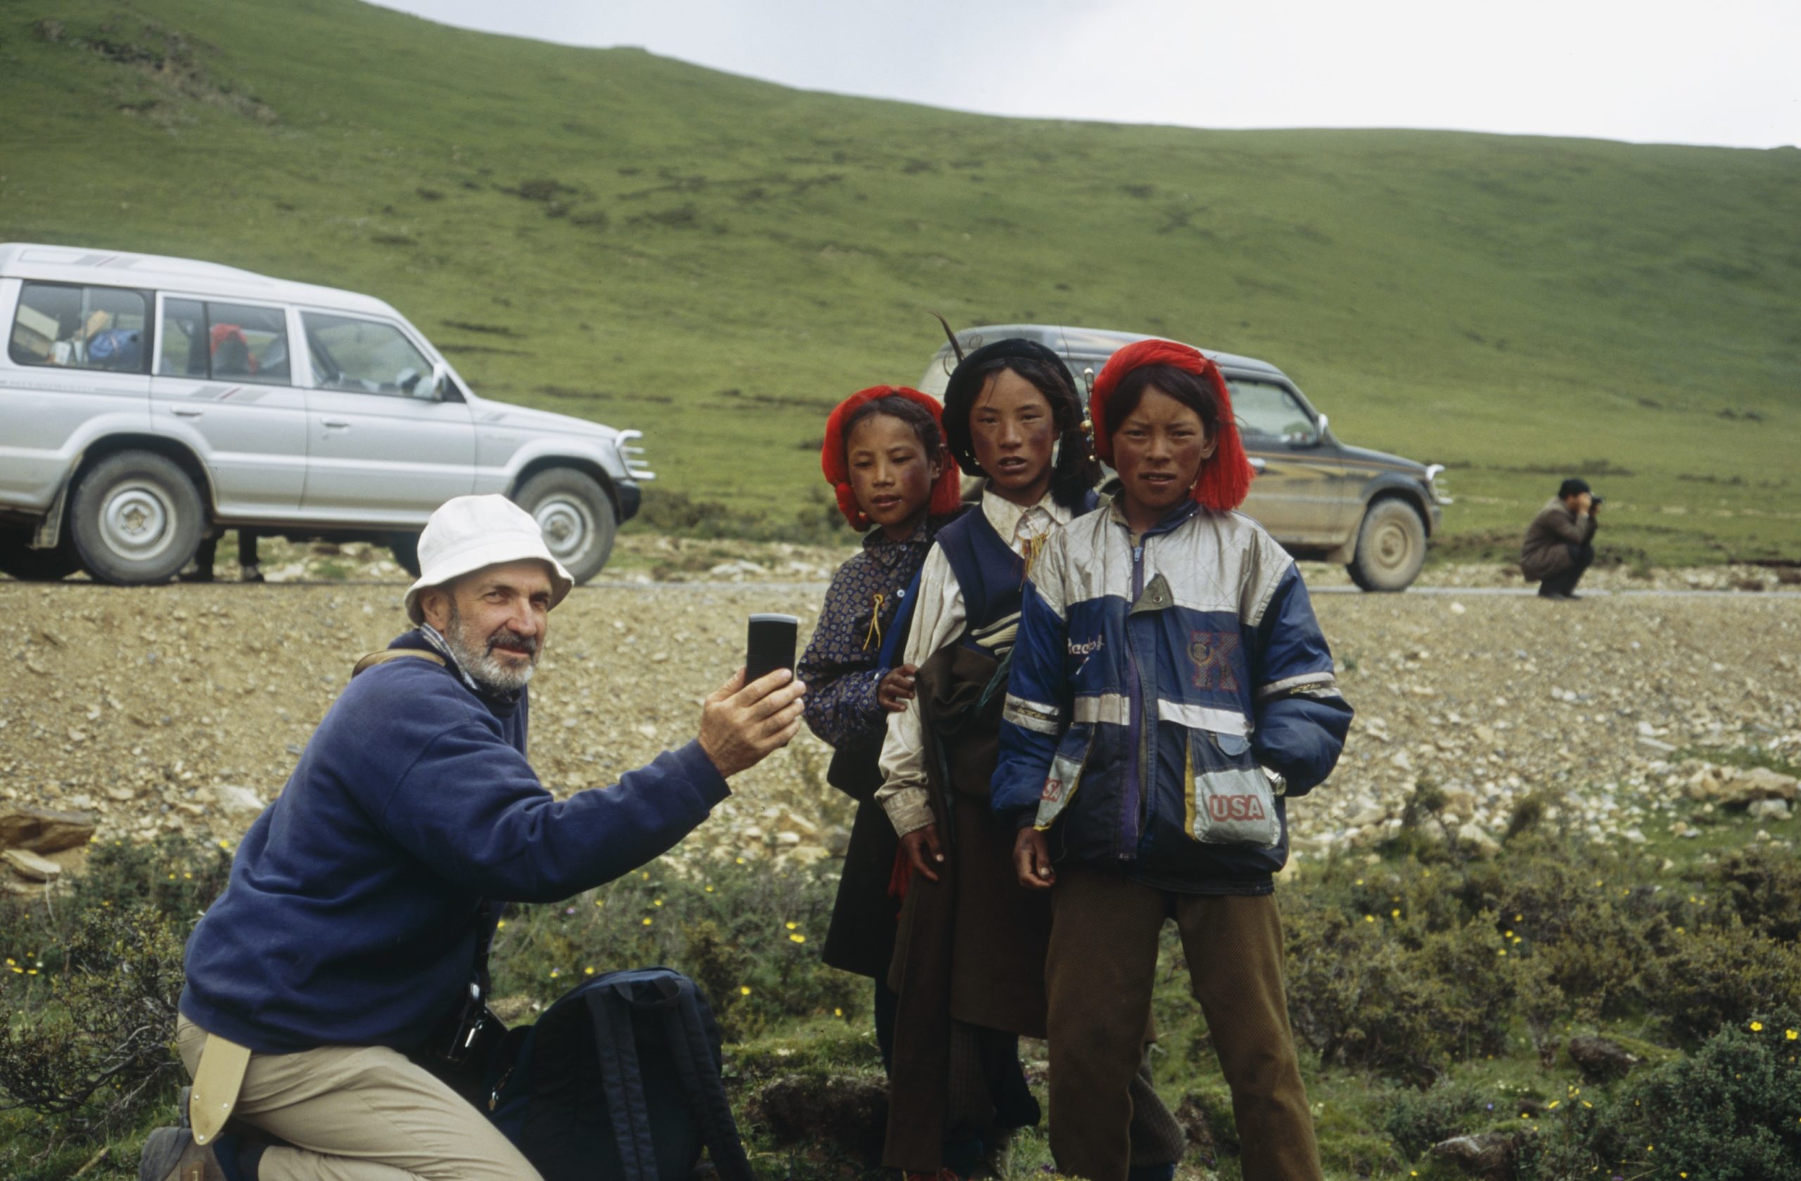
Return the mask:
<svg viewBox="0 0 1801 1181"><path fill-rule="evenodd" d="M994 810L1048 830L1057 862L1185 893L1273 889L1284 794L1324 781L1351 727L1295 560L1194 502L1136 547L1117 506L1057 533L1007 688ZM1244 819L1266 835L1234 839Z"/></svg>

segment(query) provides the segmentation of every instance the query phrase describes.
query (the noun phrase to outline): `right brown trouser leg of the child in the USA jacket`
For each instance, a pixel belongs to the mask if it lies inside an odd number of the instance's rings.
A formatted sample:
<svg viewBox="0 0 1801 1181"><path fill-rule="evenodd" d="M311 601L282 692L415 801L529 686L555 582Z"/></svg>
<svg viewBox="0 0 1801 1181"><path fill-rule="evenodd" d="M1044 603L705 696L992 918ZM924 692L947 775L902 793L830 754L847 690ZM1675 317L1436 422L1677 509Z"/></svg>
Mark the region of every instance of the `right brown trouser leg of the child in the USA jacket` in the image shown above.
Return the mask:
<svg viewBox="0 0 1801 1181"><path fill-rule="evenodd" d="M1313 1113L1282 992L1282 920L1273 895L1187 895L1181 951L1219 1069L1232 1087L1244 1181L1318 1181Z"/></svg>

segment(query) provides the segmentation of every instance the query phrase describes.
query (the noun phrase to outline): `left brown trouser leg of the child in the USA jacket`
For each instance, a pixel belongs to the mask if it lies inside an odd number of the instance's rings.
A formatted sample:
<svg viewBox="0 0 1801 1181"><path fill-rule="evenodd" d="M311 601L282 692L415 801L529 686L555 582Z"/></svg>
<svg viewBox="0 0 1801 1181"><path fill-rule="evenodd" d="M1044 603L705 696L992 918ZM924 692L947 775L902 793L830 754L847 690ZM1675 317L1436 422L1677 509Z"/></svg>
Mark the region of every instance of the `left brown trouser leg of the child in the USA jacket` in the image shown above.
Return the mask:
<svg viewBox="0 0 1801 1181"><path fill-rule="evenodd" d="M1050 891L1050 1150L1061 1172L1124 1181L1163 895L1070 868Z"/></svg>

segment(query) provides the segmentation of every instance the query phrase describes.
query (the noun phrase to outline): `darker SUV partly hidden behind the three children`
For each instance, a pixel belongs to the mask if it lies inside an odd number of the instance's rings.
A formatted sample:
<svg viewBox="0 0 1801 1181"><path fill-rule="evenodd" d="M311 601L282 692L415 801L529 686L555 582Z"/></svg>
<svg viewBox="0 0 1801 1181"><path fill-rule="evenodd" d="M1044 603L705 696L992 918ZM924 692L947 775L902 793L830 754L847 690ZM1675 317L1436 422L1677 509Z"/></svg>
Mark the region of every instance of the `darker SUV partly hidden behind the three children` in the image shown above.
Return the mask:
<svg viewBox="0 0 1801 1181"><path fill-rule="evenodd" d="M991 324L956 335L964 351L1025 337L1055 351L1077 382L1093 382L1117 349L1142 333L1055 324ZM1288 376L1270 362L1203 349L1232 389L1232 410L1257 479L1244 511L1297 558L1342 562L1365 590L1405 590L1439 531L1441 464L1340 443ZM942 398L955 364L946 344L920 389Z"/></svg>

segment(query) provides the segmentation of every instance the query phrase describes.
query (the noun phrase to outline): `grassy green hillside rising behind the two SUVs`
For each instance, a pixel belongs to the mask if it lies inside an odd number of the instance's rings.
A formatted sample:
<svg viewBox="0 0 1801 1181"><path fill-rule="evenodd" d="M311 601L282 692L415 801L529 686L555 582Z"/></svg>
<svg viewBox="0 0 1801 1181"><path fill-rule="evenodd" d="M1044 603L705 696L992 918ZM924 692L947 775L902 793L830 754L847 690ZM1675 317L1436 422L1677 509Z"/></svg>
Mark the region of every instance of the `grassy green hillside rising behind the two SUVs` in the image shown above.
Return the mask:
<svg viewBox="0 0 1801 1181"><path fill-rule="evenodd" d="M915 382L937 310L1270 358L1452 464L1453 551L1588 472L1628 556L1801 558L1797 198L1796 149L992 119L351 0L0 0L0 241L373 292L765 529L823 520L825 410Z"/></svg>

